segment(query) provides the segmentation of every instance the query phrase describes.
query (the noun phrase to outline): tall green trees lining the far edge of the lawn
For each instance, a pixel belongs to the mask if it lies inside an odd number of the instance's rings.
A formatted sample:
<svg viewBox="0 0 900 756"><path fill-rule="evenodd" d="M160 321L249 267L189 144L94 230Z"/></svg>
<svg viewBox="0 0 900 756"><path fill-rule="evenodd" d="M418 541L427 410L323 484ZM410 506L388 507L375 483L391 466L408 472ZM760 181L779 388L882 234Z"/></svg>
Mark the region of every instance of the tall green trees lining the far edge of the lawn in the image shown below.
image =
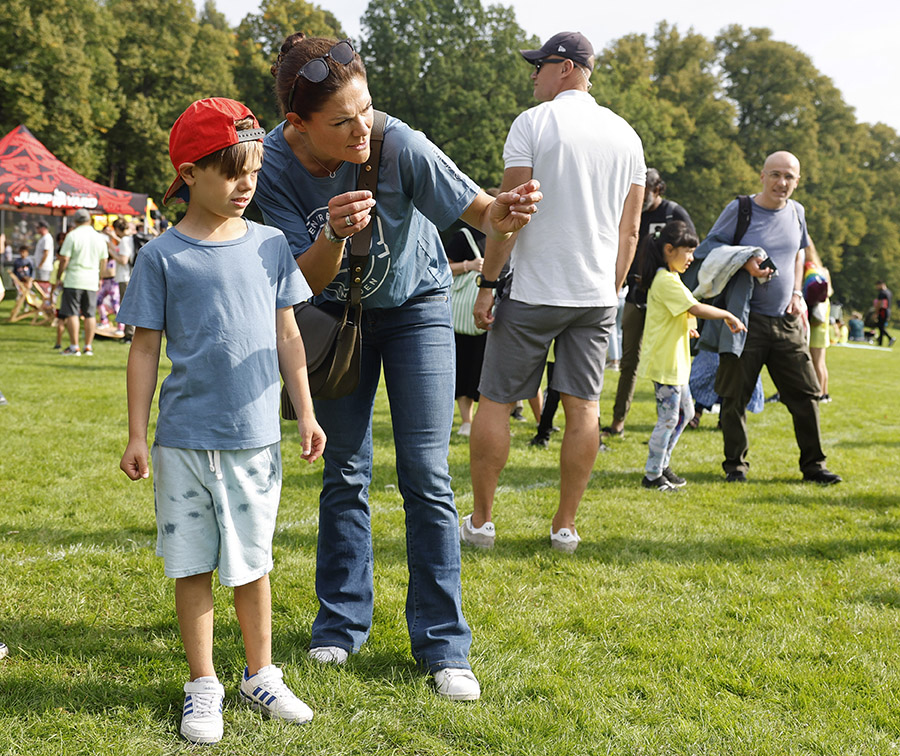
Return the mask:
<svg viewBox="0 0 900 756"><path fill-rule="evenodd" d="M325 7L263 0L231 28L206 0L6 0L0 5L0 133L27 125L75 170L160 197L168 132L194 99L235 97L281 120L269 73L294 31L344 38ZM533 105L533 48L510 8L481 0L371 0L354 40L376 106L425 132L483 186L497 184L515 116ZM598 51L591 94L628 120L669 195L705 233L765 156L797 154L797 199L836 299L865 308L900 288L900 137L858 123L834 84L768 29L715 39L662 22Z"/></svg>

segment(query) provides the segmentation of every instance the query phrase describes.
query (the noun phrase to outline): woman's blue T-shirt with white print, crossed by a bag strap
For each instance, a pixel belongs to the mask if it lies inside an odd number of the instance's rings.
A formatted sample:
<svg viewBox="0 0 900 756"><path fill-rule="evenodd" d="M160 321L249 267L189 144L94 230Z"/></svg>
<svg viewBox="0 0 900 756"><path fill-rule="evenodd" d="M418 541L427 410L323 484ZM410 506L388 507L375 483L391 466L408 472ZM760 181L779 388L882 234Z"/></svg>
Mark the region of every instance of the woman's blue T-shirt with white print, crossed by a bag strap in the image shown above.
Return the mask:
<svg viewBox="0 0 900 756"><path fill-rule="evenodd" d="M334 178L313 176L285 140L285 125L276 126L265 138L256 202L266 223L284 231L291 251L299 256L318 238L328 201L356 189L360 168L345 162ZM369 265L362 283L364 308L397 307L411 297L450 286L450 265L438 228L458 219L477 192L471 179L423 134L388 116ZM326 299L347 298L349 252L348 240L341 270L323 292Z"/></svg>

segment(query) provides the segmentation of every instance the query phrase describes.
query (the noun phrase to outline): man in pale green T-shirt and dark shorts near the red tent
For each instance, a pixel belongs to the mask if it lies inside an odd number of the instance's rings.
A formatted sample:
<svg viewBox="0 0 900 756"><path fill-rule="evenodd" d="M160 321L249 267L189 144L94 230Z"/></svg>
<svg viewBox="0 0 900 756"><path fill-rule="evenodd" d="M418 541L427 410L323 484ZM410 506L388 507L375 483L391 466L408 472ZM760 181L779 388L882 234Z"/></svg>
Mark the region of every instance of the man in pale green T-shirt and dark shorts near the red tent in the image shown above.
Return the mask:
<svg viewBox="0 0 900 756"><path fill-rule="evenodd" d="M78 343L79 316L84 316L84 354L94 354L94 334L97 330L97 291L100 289L100 266L109 257L106 238L94 230L91 214L79 208L72 216L75 228L66 236L59 250L56 285L63 284L59 300L59 319L65 323L69 346L60 354L80 357ZM65 280L63 281L63 274Z"/></svg>

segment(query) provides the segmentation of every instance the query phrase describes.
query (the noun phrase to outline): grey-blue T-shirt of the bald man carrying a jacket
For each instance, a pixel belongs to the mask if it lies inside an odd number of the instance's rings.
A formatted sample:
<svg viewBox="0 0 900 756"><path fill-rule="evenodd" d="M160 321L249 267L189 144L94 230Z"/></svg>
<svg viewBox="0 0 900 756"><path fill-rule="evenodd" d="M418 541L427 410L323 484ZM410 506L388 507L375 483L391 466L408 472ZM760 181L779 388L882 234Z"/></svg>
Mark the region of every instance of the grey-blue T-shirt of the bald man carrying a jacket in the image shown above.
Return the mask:
<svg viewBox="0 0 900 756"><path fill-rule="evenodd" d="M708 249L731 244L737 226L738 201L728 203L713 224L694 257L706 256ZM750 297L750 311L773 318L784 317L791 294L799 288L794 281L794 262L797 252L809 246L806 233L806 213L803 205L788 200L780 210L768 210L753 202L750 226L740 242L750 247L762 247L778 268L778 275L768 283L758 282Z"/></svg>

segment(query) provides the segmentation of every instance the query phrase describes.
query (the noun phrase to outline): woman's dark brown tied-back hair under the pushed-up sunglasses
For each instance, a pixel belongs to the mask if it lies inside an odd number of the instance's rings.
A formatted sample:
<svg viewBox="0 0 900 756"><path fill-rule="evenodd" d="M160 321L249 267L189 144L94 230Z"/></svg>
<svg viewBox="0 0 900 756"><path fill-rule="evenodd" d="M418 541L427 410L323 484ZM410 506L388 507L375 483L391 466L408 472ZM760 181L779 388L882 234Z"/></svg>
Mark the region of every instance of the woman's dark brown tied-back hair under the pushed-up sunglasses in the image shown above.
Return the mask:
<svg viewBox="0 0 900 756"><path fill-rule="evenodd" d="M281 44L281 52L269 69L275 77L275 99L281 113L294 112L301 118L309 118L318 113L331 96L357 77L366 79L366 67L359 53L353 53L353 60L347 65L327 61L329 74L324 81L309 81L297 72L314 58L321 58L340 40L330 37L307 37L303 32L294 32ZM294 86L296 79L297 85ZM294 101L288 102L294 89Z"/></svg>

